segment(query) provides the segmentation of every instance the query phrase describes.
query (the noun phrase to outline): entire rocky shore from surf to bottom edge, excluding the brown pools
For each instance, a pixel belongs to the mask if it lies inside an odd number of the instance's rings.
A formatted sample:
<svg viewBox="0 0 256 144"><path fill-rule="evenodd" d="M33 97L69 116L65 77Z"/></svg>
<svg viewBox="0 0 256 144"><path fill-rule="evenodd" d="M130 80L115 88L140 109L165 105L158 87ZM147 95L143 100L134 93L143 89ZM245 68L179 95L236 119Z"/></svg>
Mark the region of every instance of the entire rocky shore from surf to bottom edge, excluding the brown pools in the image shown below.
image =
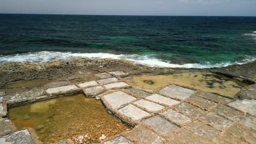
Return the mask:
<svg viewBox="0 0 256 144"><path fill-rule="evenodd" d="M254 143L255 69L256 61L212 69L159 68L120 59L86 58L38 64L4 63L0 66L0 125L5 128L0 127L0 141L10 140L9 136L14 136L21 142L40 143L33 130L18 131L11 122L5 122L8 120L5 118L8 106L84 93L86 97L100 99L108 111L135 127L120 135L107 137L101 140L102 143L187 143L190 140L197 143ZM134 75L185 72L216 73L251 86L243 88L231 99L176 85L147 91L137 89L127 81ZM8 82L34 79L51 82L38 87L4 87ZM72 143L72 140L59 143Z"/></svg>

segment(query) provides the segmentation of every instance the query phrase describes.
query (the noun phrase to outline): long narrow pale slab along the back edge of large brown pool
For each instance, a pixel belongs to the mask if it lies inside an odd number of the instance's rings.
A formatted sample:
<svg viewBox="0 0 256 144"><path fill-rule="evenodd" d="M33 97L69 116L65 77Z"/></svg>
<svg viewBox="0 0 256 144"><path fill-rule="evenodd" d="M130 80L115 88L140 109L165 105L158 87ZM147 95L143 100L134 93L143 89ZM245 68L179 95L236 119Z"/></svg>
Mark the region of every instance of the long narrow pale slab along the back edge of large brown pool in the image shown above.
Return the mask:
<svg viewBox="0 0 256 144"><path fill-rule="evenodd" d="M61 86L46 89L48 95L66 94L69 92L77 91L78 87L75 85Z"/></svg>

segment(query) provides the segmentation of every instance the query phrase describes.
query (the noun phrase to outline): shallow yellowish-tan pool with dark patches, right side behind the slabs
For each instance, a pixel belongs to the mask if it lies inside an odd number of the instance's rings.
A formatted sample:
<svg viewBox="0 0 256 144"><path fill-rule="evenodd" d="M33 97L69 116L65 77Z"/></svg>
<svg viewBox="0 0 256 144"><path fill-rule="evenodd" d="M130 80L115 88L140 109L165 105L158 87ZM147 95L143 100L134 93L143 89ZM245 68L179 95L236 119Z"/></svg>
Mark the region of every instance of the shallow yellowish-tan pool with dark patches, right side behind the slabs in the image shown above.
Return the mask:
<svg viewBox="0 0 256 144"><path fill-rule="evenodd" d="M201 91L218 93L228 97L247 87L246 83L228 79L212 73L181 73L165 75L133 76L129 82L138 88L156 91L169 84L200 89Z"/></svg>

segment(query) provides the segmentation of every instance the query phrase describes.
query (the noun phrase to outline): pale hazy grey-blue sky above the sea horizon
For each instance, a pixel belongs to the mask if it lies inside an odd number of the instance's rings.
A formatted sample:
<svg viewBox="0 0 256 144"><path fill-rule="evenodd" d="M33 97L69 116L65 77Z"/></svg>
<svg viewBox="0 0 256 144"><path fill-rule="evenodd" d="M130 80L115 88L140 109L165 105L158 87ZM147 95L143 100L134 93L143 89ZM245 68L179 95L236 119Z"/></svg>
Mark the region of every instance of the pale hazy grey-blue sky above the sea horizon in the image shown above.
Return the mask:
<svg viewBox="0 0 256 144"><path fill-rule="evenodd" d="M256 16L256 0L0 0L0 13Z"/></svg>

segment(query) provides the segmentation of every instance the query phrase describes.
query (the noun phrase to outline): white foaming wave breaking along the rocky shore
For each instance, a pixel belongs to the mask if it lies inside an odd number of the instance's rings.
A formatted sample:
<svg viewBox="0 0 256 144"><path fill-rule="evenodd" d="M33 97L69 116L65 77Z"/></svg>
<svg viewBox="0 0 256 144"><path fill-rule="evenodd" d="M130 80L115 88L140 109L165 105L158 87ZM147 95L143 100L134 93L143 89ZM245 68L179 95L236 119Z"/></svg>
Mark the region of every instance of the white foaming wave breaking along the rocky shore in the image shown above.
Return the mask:
<svg viewBox="0 0 256 144"><path fill-rule="evenodd" d="M71 53L71 52L30 52L21 53L17 55L0 56L0 64L5 62L33 62L42 63L49 61L57 61L61 59L73 58L113 58L113 59L126 59L135 63L145 64L152 67L172 67L172 68L220 68L232 64L245 64L256 60L256 57L248 57L240 62L227 62L227 63L188 63L188 64L172 64L169 62L161 61L161 59L154 58L154 55L114 55L112 53Z"/></svg>

